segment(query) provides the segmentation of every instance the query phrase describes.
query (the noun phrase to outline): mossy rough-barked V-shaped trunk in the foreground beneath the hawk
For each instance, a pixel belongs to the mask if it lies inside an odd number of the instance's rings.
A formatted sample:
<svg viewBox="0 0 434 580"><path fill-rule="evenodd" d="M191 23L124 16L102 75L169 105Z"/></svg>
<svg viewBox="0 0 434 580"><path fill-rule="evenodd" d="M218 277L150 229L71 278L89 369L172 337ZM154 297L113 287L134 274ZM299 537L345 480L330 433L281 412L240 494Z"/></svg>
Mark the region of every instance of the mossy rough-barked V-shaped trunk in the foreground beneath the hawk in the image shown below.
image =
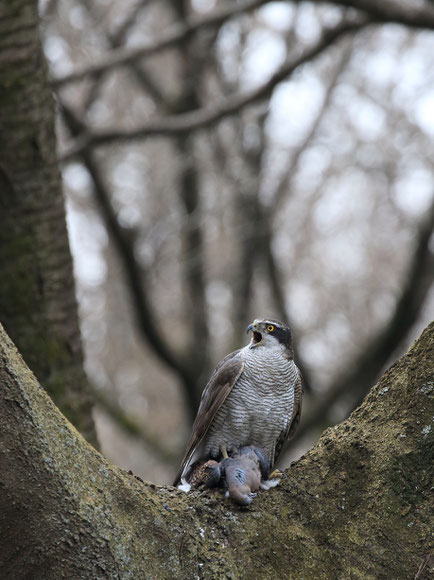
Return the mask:
<svg viewBox="0 0 434 580"><path fill-rule="evenodd" d="M2 578L429 578L434 323L249 509L110 465L0 333Z"/></svg>

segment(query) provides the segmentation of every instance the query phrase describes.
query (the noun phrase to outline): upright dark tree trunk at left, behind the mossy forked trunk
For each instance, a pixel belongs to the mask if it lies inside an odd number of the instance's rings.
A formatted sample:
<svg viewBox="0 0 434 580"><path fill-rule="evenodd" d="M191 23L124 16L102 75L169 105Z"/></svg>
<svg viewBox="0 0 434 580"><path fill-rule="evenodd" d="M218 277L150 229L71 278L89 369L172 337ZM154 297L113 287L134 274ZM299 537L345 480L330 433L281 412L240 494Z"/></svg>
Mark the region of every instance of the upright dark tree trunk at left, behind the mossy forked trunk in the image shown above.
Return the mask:
<svg viewBox="0 0 434 580"><path fill-rule="evenodd" d="M37 2L0 0L0 320L95 442L53 124Z"/></svg>

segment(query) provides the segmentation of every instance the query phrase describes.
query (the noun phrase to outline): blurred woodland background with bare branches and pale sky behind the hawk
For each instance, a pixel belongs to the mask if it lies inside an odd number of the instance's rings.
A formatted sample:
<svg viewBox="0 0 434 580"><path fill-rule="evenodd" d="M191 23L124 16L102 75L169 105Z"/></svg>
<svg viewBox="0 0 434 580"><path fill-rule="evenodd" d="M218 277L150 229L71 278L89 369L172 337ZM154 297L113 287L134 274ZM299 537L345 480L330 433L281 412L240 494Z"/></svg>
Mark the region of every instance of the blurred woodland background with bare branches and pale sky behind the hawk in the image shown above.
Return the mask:
<svg viewBox="0 0 434 580"><path fill-rule="evenodd" d="M170 482L208 373L271 316L306 377L287 465L432 318L432 4L40 8L103 452Z"/></svg>

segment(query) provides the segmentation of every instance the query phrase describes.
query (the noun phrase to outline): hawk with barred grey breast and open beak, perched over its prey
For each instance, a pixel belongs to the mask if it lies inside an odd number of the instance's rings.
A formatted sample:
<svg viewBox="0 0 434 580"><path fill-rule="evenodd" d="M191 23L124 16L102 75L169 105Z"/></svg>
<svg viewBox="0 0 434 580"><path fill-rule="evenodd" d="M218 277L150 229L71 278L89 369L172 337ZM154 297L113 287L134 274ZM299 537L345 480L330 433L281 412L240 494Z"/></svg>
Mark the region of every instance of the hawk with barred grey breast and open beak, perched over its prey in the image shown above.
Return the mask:
<svg viewBox="0 0 434 580"><path fill-rule="evenodd" d="M294 363L292 335L271 319L249 325L251 340L228 354L206 385L174 485L188 491L198 462L220 460L253 445L270 466L299 423L302 377ZM267 482L261 487L267 488Z"/></svg>

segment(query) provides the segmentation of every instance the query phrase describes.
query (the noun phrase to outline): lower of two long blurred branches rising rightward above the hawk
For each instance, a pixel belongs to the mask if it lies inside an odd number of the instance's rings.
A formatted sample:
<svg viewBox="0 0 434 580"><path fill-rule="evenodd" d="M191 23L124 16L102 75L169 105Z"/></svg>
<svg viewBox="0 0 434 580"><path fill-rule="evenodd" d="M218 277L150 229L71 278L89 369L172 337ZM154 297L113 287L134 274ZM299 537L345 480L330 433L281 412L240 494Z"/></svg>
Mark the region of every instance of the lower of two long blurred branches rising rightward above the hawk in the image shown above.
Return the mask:
<svg viewBox="0 0 434 580"><path fill-rule="evenodd" d="M61 157L60 161L69 161L79 155L84 149L101 145L131 142L156 135L161 137L181 135L193 130L210 127L221 119L238 113L244 107L269 97L275 86L286 79L299 66L314 59L342 36L356 32L367 24L367 20L358 19L352 22L342 22L333 29L325 30L321 39L315 45L306 49L302 55L294 56L285 62L271 76L269 81L247 93L224 99L214 107L206 107L167 119L159 119L134 130L120 129L116 131L99 131L91 134L85 133L78 137L75 145Z"/></svg>

